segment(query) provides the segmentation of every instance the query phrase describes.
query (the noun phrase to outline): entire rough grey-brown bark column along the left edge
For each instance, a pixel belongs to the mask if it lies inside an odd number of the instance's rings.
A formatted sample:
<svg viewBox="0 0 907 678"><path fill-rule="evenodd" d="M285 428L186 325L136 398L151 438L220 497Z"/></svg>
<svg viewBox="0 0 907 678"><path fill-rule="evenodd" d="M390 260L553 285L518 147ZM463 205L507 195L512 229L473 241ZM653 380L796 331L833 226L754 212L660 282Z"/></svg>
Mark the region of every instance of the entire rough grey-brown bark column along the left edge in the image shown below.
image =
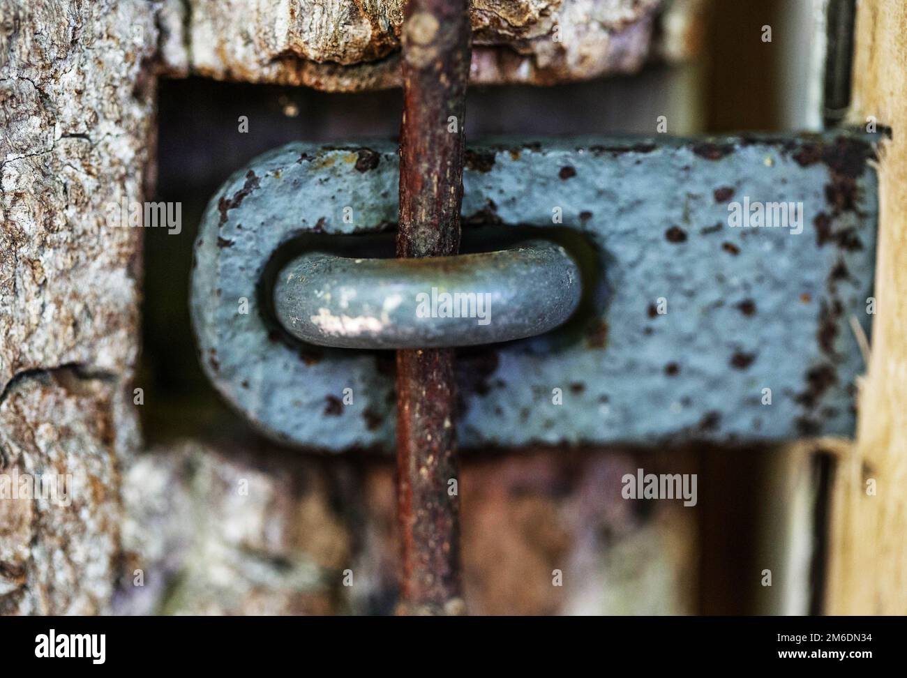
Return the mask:
<svg viewBox="0 0 907 678"><path fill-rule="evenodd" d="M118 576L141 228L105 209L141 200L152 9L0 0L0 473L73 476L68 507L0 499L7 614L102 612Z"/></svg>

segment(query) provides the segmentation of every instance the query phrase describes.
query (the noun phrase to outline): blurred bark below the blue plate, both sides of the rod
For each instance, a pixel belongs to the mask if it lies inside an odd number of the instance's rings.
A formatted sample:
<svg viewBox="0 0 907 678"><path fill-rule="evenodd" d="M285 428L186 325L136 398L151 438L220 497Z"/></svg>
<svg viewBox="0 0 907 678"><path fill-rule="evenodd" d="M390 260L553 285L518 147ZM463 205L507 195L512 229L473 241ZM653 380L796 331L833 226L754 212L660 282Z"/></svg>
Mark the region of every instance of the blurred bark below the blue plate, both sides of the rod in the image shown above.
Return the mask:
<svg viewBox="0 0 907 678"><path fill-rule="evenodd" d="M697 509L620 495L622 475L639 467L696 470L684 457L665 466L652 454L551 449L464 460L470 612L696 612ZM394 474L389 460L288 457L259 443L155 447L122 490L129 572L141 569L145 586L124 586L114 611L389 614L400 571Z"/></svg>

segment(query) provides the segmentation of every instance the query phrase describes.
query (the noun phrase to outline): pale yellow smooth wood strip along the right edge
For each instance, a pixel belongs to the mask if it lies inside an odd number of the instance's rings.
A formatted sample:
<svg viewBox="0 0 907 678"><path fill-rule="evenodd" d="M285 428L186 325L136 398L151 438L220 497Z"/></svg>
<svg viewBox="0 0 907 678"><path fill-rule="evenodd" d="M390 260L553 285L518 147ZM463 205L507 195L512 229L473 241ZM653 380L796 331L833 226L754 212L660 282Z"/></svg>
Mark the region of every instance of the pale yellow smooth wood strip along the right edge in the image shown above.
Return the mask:
<svg viewBox="0 0 907 678"><path fill-rule="evenodd" d="M907 5L859 3L850 120L892 128L879 166L869 373L857 441L835 473L832 614L907 614ZM881 133L881 128L880 128Z"/></svg>

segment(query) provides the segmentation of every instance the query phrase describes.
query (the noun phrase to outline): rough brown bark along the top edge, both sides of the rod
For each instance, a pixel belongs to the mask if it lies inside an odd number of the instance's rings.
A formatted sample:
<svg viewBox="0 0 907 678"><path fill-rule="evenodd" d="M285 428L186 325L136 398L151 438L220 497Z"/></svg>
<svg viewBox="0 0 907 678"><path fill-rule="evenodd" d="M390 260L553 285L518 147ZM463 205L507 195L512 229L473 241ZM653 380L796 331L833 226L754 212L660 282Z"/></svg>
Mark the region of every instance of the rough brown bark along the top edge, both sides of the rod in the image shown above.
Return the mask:
<svg viewBox="0 0 907 678"><path fill-rule="evenodd" d="M360 91L400 83L405 0L167 0L175 75ZM551 84L633 73L696 50L704 0L473 0L473 82ZM659 14L668 7L663 14ZM660 30L656 31L658 26Z"/></svg>

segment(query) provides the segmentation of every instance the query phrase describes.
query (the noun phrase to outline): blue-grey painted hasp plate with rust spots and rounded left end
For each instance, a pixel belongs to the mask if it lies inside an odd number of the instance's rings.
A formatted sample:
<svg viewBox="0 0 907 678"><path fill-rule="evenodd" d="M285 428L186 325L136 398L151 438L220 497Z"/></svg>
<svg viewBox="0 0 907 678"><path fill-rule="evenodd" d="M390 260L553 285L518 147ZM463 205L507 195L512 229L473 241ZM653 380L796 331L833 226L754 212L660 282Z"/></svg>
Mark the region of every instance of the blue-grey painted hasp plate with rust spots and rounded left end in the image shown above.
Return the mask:
<svg viewBox="0 0 907 678"><path fill-rule="evenodd" d="M463 446L853 433L864 365L850 319L868 333L872 155L843 134L469 151L467 224L574 234L592 252L564 241L584 276L603 273L584 281L577 321L461 355ZM393 225L397 171L387 143L293 143L233 175L206 212L191 291L200 357L219 392L278 440L393 450L392 359L292 344L268 325L258 288L297 237ZM802 230L730 225L766 204Z"/></svg>

